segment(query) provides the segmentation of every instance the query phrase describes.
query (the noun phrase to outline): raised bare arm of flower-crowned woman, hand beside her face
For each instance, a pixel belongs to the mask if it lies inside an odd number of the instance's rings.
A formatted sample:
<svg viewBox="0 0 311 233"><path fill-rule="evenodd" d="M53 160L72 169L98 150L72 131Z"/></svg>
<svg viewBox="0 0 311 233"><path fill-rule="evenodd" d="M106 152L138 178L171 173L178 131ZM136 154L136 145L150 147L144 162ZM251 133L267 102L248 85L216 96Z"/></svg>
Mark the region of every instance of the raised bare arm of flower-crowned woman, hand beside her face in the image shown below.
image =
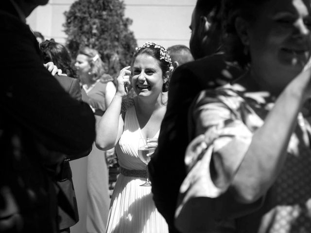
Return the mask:
<svg viewBox="0 0 311 233"><path fill-rule="evenodd" d="M110 105L96 126L96 146L100 150L109 150L119 141L123 132L123 119L121 117L122 98L127 95L125 85L129 85L129 67L121 69L117 79L118 90Z"/></svg>

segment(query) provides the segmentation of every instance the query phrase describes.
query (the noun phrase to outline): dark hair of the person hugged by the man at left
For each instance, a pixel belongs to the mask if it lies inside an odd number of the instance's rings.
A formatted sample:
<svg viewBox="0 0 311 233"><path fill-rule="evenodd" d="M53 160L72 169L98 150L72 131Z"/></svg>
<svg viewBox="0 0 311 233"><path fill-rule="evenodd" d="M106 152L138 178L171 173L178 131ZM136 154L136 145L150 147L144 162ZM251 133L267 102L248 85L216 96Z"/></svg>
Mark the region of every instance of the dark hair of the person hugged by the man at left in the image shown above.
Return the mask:
<svg viewBox="0 0 311 233"><path fill-rule="evenodd" d="M53 62L69 77L77 78L75 70L72 68L72 61L68 50L62 44L51 40L45 40L40 44L40 50L43 54L44 63Z"/></svg>

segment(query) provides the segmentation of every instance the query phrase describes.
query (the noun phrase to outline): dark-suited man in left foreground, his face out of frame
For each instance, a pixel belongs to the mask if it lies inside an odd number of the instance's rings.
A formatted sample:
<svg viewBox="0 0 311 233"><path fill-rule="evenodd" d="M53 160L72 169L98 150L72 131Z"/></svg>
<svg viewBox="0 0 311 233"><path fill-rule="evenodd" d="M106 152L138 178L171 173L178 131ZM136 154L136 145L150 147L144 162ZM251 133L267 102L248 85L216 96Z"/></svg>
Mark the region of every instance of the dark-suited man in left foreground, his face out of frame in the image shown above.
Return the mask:
<svg viewBox="0 0 311 233"><path fill-rule="evenodd" d="M57 232L54 181L66 155L87 153L95 119L43 66L25 19L47 0L0 3L0 232Z"/></svg>

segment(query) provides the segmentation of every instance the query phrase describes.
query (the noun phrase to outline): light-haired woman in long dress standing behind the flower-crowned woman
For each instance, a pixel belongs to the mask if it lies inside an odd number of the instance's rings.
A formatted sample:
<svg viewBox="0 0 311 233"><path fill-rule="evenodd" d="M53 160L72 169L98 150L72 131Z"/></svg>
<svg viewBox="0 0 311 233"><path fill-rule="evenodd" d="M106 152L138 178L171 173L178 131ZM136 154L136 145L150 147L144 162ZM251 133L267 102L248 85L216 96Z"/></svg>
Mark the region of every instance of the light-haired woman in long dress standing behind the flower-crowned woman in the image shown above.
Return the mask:
<svg viewBox="0 0 311 233"><path fill-rule="evenodd" d="M105 74L104 62L94 49L86 47L80 50L75 67L98 122L116 93L113 79ZM105 161L107 152L97 149L94 143L87 158L86 232L103 233L106 229L110 203L108 169Z"/></svg>

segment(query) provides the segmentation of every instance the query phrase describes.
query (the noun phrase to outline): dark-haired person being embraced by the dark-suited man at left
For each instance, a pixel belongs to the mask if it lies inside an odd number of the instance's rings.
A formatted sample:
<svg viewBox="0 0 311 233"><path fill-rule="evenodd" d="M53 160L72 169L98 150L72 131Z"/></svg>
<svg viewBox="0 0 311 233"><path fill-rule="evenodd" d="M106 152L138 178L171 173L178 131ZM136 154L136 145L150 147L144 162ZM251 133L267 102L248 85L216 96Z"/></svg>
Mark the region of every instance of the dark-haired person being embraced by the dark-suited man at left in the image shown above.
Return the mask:
<svg viewBox="0 0 311 233"><path fill-rule="evenodd" d="M44 63L53 62L54 65L65 73L61 76L55 75L55 79L73 99L81 101L82 89L80 87L79 80L73 78L76 77L76 73L71 66L71 58L66 47L55 42L54 39L51 39L40 43L40 50L42 52ZM70 75L70 77L67 75ZM90 150L91 149L92 148L90 148ZM60 174L57 176L57 184L64 194L64 196L58 195L59 198L57 200L58 224L59 232L61 233L69 233L70 227L79 221L78 206L72 182L72 171L69 165L69 160L87 156L88 152L78 156L70 155L66 157L66 160L64 160L61 165ZM71 213L70 210L73 210L73 212Z"/></svg>

